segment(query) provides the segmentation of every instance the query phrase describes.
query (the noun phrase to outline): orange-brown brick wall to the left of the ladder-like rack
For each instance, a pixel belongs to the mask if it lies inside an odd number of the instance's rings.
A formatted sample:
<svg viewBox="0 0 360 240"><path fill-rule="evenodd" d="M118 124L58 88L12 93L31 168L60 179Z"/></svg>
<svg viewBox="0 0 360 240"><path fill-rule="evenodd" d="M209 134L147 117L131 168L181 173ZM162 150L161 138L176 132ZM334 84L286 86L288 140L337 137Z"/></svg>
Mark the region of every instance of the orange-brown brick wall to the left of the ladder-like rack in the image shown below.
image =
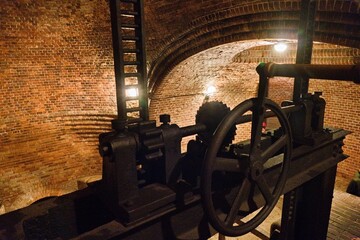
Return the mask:
<svg viewBox="0 0 360 240"><path fill-rule="evenodd" d="M6 211L101 174L97 135L115 114L108 6L2 1L0 204Z"/></svg>

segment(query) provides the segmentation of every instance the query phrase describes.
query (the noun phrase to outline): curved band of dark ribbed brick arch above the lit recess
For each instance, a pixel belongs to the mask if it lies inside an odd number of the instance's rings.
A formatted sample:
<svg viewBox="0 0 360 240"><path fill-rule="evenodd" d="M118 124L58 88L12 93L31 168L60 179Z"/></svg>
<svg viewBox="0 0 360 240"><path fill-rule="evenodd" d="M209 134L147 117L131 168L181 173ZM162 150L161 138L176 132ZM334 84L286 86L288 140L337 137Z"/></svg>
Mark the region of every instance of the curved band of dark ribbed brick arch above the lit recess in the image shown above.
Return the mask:
<svg viewBox="0 0 360 240"><path fill-rule="evenodd" d="M153 56L149 69L150 92L184 59L221 44L242 40L296 39L300 1L256 1L214 12L193 20L188 30L174 35ZM360 47L359 4L355 1L321 1L314 40Z"/></svg>

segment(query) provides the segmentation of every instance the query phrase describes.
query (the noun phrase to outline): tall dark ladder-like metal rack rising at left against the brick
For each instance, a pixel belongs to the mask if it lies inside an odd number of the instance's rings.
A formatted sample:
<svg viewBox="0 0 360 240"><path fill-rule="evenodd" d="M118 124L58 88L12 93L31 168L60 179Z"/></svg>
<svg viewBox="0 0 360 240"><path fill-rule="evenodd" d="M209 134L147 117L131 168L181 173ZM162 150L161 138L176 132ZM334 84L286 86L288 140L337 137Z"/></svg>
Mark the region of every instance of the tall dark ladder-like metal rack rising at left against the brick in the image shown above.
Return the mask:
<svg viewBox="0 0 360 240"><path fill-rule="evenodd" d="M113 129L148 120L142 0L110 0L118 119Z"/></svg>

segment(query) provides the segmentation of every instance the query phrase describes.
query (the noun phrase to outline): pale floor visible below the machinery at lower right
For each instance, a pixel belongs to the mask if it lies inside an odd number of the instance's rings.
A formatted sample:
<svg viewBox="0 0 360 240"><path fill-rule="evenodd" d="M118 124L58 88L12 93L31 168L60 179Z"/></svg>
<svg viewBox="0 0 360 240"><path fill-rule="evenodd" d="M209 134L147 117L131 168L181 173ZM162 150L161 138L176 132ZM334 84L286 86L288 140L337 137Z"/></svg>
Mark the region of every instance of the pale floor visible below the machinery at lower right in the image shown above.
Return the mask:
<svg viewBox="0 0 360 240"><path fill-rule="evenodd" d="M360 197L346 193L348 182L341 177L336 178L328 240L360 240ZM268 218L251 233L236 238L216 234L210 240L267 240L271 224L281 218L281 207L282 198Z"/></svg>

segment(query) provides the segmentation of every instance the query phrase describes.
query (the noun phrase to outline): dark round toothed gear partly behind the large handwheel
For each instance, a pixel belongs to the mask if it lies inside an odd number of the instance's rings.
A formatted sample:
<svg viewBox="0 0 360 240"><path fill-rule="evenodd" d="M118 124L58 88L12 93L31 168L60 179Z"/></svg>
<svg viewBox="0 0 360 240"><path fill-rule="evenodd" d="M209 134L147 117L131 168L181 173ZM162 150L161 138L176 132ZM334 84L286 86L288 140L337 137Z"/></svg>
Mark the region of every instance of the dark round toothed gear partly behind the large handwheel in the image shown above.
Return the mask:
<svg viewBox="0 0 360 240"><path fill-rule="evenodd" d="M230 108L226 104L219 101L206 102L197 111L195 122L196 124L204 124L206 126L206 131L199 133L199 139L209 145L212 139L212 136L223 120L223 118L230 112ZM227 146L234 140L236 134L236 126L233 126L232 129L226 135L223 145Z"/></svg>

